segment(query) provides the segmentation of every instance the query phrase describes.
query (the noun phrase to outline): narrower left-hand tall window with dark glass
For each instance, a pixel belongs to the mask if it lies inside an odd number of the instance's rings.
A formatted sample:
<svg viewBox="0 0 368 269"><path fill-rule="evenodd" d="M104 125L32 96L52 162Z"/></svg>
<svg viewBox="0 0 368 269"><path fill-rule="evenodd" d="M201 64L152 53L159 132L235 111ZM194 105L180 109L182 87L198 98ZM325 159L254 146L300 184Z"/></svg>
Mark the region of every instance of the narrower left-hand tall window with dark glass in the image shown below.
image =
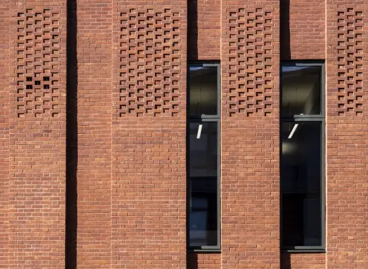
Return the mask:
<svg viewBox="0 0 368 269"><path fill-rule="evenodd" d="M188 248L220 248L219 64L188 67Z"/></svg>

